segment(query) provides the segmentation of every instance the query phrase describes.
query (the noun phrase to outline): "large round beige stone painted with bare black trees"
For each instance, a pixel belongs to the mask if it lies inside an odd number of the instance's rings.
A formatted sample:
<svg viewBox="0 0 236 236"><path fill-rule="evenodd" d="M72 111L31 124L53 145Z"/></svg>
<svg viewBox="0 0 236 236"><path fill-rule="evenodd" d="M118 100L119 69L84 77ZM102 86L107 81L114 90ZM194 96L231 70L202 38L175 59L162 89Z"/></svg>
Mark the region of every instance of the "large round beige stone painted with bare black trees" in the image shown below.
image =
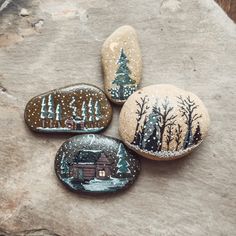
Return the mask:
<svg viewBox="0 0 236 236"><path fill-rule="evenodd" d="M173 160L195 149L210 119L202 101L172 85L151 85L129 97L120 113L124 143L153 160Z"/></svg>

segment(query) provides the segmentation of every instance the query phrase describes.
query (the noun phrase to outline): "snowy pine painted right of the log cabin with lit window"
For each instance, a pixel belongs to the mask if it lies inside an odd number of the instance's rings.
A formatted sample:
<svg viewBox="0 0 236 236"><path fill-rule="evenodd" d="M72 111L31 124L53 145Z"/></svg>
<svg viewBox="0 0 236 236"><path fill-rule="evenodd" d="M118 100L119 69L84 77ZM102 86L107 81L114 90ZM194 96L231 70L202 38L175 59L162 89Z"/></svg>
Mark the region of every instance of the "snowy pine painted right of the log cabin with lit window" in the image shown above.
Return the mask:
<svg viewBox="0 0 236 236"><path fill-rule="evenodd" d="M122 143L119 145L117 156L119 157L119 161L117 163L117 174L124 175L131 173L129 169L129 163L126 161L126 157L128 156L128 154Z"/></svg>

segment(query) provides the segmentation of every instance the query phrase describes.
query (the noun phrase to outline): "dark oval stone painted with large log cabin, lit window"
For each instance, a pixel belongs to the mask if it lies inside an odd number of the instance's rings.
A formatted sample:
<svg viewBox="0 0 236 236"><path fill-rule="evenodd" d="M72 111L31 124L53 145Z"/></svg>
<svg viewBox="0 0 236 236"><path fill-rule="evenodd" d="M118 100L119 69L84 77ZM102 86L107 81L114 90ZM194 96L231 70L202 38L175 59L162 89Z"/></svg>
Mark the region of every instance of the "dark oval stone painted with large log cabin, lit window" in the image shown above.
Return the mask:
<svg viewBox="0 0 236 236"><path fill-rule="evenodd" d="M116 192L134 182L140 162L120 140L84 134L62 144L56 154L55 171L73 191Z"/></svg>

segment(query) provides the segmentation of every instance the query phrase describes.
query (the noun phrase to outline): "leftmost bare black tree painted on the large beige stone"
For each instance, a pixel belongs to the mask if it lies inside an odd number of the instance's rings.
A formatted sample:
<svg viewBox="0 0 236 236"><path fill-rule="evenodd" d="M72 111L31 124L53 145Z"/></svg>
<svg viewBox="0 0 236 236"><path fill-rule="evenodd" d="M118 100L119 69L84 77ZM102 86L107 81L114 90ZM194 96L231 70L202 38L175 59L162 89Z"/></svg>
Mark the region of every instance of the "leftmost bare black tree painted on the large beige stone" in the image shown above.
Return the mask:
<svg viewBox="0 0 236 236"><path fill-rule="evenodd" d="M149 109L149 106L147 105L149 99L147 98L147 96L141 97L140 101L136 101L136 104L138 106L136 114L137 114L137 124L136 124L136 128L135 128L135 133L134 133L134 139L132 141L132 144L134 145L139 145L140 143L140 122L143 118L143 116L147 113L147 110Z"/></svg>

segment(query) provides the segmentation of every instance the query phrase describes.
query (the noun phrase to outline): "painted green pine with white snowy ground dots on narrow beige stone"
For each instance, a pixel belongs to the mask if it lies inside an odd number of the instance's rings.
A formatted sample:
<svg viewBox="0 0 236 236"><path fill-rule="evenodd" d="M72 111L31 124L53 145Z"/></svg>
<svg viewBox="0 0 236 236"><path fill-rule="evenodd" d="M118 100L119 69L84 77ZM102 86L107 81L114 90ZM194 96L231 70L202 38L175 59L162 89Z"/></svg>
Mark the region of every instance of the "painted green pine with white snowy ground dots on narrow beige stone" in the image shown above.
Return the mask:
<svg viewBox="0 0 236 236"><path fill-rule="evenodd" d="M112 81L112 84L115 86L109 90L113 99L126 100L137 89L135 80L131 78L128 63L129 60L122 48L117 61L118 69L115 73L115 79Z"/></svg>

